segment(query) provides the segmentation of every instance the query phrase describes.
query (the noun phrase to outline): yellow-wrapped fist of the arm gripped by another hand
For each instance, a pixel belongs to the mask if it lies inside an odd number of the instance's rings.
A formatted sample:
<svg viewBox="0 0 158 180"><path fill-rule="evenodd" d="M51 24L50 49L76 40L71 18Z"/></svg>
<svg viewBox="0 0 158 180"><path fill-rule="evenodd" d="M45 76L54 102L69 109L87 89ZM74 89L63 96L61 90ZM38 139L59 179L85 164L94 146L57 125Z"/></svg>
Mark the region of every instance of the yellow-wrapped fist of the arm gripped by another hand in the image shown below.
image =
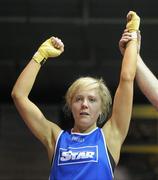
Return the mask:
<svg viewBox="0 0 158 180"><path fill-rule="evenodd" d="M140 25L139 16L135 12L130 11L127 15L126 29L128 29L129 32L138 31L139 25Z"/></svg>

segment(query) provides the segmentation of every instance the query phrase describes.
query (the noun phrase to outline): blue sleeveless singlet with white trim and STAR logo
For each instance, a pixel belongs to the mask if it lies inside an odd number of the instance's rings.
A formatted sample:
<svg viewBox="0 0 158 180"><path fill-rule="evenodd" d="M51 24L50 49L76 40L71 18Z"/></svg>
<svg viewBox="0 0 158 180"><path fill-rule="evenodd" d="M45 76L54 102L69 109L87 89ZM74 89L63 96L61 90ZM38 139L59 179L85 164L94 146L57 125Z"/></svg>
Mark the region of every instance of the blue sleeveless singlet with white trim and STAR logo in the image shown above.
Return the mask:
<svg viewBox="0 0 158 180"><path fill-rule="evenodd" d="M62 131L56 143L50 180L112 180L113 171L100 128L90 133Z"/></svg>

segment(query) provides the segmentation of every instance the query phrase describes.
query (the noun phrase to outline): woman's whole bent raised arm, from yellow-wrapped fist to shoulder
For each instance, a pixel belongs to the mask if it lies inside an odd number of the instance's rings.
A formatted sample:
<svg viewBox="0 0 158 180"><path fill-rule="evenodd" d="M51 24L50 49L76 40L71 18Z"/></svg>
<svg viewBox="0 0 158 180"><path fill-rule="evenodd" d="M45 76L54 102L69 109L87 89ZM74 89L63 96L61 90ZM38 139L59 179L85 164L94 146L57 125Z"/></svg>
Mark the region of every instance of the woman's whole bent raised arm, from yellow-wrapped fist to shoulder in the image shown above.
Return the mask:
<svg viewBox="0 0 158 180"><path fill-rule="evenodd" d="M60 39L52 37L45 41L18 77L11 94L22 119L32 133L46 146L50 159L60 128L48 121L28 96L41 64L49 57L59 56L63 50L64 45Z"/></svg>

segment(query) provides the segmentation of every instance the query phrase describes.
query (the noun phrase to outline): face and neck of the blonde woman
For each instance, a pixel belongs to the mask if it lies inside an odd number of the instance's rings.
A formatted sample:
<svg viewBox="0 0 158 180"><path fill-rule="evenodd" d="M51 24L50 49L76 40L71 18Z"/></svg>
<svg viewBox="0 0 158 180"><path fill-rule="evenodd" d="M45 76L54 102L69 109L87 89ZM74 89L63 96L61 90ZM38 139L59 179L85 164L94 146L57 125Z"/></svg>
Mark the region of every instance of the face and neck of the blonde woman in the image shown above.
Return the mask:
<svg viewBox="0 0 158 180"><path fill-rule="evenodd" d="M101 99L96 89L77 91L72 99L71 111L76 131L90 131L96 127L101 114Z"/></svg>

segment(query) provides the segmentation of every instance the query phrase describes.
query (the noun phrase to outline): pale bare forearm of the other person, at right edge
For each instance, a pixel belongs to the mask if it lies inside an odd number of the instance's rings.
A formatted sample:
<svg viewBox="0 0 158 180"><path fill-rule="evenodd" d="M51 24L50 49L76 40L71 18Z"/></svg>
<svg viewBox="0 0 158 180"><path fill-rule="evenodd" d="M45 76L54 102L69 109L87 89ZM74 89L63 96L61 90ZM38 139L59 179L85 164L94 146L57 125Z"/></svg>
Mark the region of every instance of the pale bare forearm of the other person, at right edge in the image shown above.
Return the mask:
<svg viewBox="0 0 158 180"><path fill-rule="evenodd" d="M158 109L158 79L138 55L136 81L142 93Z"/></svg>

